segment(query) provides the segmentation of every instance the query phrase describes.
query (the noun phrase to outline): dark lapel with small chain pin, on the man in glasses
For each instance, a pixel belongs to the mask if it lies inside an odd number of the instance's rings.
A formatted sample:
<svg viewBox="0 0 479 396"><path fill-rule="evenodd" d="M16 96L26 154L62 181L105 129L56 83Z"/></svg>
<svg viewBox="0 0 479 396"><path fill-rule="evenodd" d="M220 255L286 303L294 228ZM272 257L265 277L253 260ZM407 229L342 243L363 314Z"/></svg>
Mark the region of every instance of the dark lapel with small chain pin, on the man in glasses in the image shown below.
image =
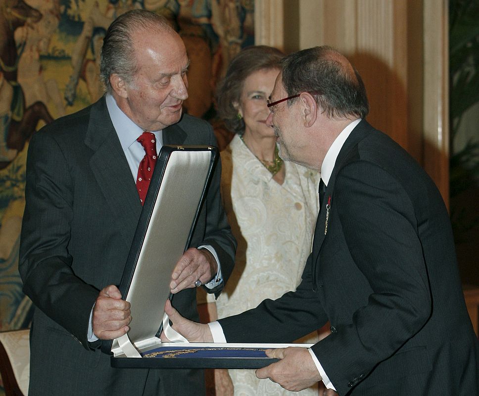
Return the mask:
<svg viewBox="0 0 479 396"><path fill-rule="evenodd" d="M312 279L313 279L313 289L316 290L316 269L320 265L318 263L319 253L321 247L323 246L324 240L327 233L325 234L326 227L330 226L329 221L331 218L331 211L334 210L334 189L335 181L338 171L349 161L349 154L351 150L357 146L357 144L365 138L365 136L373 130L373 127L369 125L366 120L362 120L356 127L352 130L349 137L344 142L342 148L337 155L335 166L333 172L331 173L328 186L326 187L326 192L324 195L323 202L320 202L320 213L318 215L318 220L316 221L316 227L314 230L313 238L313 250L312 250ZM327 205L330 204L330 213L328 219L328 225L326 224L326 217L328 215Z"/></svg>

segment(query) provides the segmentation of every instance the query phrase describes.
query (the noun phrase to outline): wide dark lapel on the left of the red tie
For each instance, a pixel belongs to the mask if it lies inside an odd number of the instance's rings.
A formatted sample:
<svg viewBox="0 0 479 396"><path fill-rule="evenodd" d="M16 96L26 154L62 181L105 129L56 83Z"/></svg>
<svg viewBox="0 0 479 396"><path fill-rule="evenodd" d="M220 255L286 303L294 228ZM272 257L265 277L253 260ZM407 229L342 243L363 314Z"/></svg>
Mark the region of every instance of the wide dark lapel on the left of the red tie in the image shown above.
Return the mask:
<svg viewBox="0 0 479 396"><path fill-rule="evenodd" d="M119 222L125 241L131 243L142 205L104 98L92 107L85 144L94 150L90 166L100 190Z"/></svg>

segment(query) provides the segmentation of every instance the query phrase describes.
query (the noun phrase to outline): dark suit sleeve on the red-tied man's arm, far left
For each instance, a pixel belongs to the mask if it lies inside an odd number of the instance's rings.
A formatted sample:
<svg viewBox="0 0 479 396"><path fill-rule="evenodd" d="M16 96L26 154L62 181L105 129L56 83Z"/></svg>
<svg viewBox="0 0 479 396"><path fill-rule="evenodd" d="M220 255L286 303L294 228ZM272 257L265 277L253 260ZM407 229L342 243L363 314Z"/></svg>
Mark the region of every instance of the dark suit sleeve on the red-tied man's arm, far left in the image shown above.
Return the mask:
<svg viewBox="0 0 479 396"><path fill-rule="evenodd" d="M28 150L19 271L23 291L33 303L87 347L86 330L98 291L71 268L73 184L69 171L65 154L52 135L35 134Z"/></svg>

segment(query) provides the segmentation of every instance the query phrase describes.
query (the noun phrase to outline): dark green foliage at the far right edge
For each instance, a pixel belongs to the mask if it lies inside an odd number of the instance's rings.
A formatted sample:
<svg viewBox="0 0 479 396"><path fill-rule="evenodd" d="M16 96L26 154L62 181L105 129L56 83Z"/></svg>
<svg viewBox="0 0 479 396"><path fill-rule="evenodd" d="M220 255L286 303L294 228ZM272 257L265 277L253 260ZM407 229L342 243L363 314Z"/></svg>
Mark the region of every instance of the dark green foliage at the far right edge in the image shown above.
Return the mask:
<svg viewBox="0 0 479 396"><path fill-rule="evenodd" d="M449 0L449 79L451 221L456 241L460 241L479 226L479 216L471 216L454 199L470 195L479 186L479 125L476 138L454 149L464 113L479 102L478 0Z"/></svg>

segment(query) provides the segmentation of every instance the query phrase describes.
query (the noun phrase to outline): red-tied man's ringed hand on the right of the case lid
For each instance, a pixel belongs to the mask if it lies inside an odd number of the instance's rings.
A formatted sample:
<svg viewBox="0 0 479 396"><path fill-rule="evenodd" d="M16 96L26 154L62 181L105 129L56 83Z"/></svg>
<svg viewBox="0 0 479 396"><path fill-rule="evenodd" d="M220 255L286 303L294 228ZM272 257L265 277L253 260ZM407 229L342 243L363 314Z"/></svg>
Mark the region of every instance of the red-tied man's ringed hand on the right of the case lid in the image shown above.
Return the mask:
<svg viewBox="0 0 479 396"><path fill-rule="evenodd" d="M194 282L197 280L204 285L211 281L217 272L218 264L208 249L191 247L183 253L171 274L171 293L194 288Z"/></svg>

